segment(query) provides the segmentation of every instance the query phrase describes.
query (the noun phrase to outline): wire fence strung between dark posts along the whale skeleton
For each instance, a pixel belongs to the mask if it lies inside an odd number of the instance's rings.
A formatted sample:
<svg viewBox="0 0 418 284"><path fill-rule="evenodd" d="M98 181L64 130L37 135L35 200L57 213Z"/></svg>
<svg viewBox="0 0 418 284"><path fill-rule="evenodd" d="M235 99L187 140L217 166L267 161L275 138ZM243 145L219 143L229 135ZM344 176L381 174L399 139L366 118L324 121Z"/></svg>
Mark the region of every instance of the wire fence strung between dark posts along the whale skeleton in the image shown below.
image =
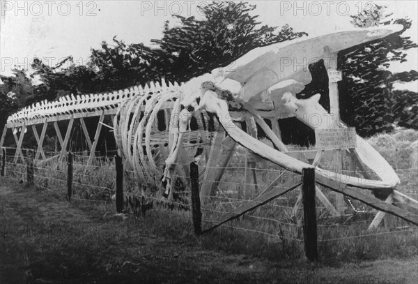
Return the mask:
<svg viewBox="0 0 418 284"><path fill-rule="evenodd" d="M13 153L13 149L8 149ZM29 151L22 151L24 159L29 157ZM21 183L26 182L27 165L18 159L15 162L15 153L6 154L6 177L10 177ZM114 202L116 192L115 183L115 162L113 156L102 156L94 160L92 165L86 166L85 154L74 154L74 172L72 180L72 200L83 200L86 202ZM232 158L227 167L212 167L212 170L222 171L217 179L203 179L205 171L211 167L204 167L205 161L201 163L199 186L212 188L208 195L208 202L201 204L203 230L217 225L231 215L233 211L239 209L250 200L263 193L272 182L281 177L281 181L275 186L270 186L270 190L277 190L283 187L287 179L300 179L300 176L287 172L283 168L274 165L256 163L249 166L243 162L242 157ZM58 160L49 160L47 163L37 163L33 165L34 180L37 188L47 190L58 195L66 196L67 184L67 165L66 158L62 163ZM162 170L164 163L157 163L157 167ZM261 167L257 167L261 166ZM145 174L153 177L153 182L144 181L137 172L129 168L124 170L124 196L125 210L134 214L140 214L140 209L147 205L153 209L167 209L173 214L191 220L190 188L187 175L189 165L178 163L175 167L183 168L186 174L178 172L173 179L176 180L173 188L173 199L168 201L163 197L164 188L160 180L156 178L158 174L150 170L144 170ZM349 172L349 170L345 170ZM357 176L364 174L358 168L351 172ZM417 199L418 172L415 168L405 168L396 170L401 178L399 191ZM360 246L361 244L382 244L385 246L387 241L414 242L418 247L417 227L410 225L406 221L387 214L383 219L378 230L368 230L371 221L376 216L376 209L359 202L350 200L338 193L334 193L327 188L318 186L321 199L316 201L316 217L318 221L318 242L320 246L332 244L335 250L346 249L347 246ZM369 192L371 193L371 191ZM303 236L303 211L301 204L301 190L295 188L290 192L275 198L267 204L243 214L235 220L222 225L224 229L233 230L236 234L245 236L260 235L268 243L281 243L289 247L302 247ZM141 200L144 197L144 200ZM330 211L332 204L334 211ZM408 206L408 205L403 205ZM335 213L334 212L334 213ZM388 246L389 247L389 246ZM418 249L418 248L417 248Z"/></svg>

